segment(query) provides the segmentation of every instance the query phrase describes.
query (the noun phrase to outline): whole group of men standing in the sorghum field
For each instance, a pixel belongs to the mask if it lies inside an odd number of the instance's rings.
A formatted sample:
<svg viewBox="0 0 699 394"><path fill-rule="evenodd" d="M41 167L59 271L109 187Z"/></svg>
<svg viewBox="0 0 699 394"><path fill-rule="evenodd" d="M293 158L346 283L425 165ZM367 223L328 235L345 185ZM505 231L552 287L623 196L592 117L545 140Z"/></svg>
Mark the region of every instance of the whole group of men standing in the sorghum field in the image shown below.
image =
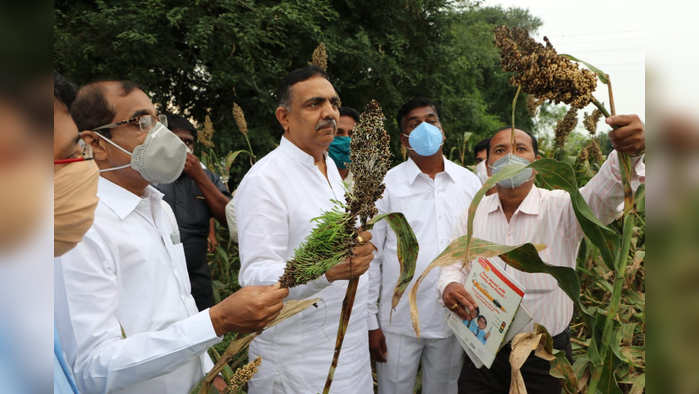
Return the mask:
<svg viewBox="0 0 699 394"><path fill-rule="evenodd" d="M359 116L341 106L321 69L306 66L281 82L270 114L283 129L279 146L255 163L232 198L194 155L196 128L181 116L158 114L143 88L97 81L76 90L58 74L54 86L56 215L65 208L55 222L56 392L188 393L213 366L209 347L228 332L255 331L261 333L249 357L262 363L248 393L320 392L354 278L359 286L331 392L373 393L372 361L379 393L412 393L419 368L423 394L508 392L509 346L491 368L477 368L446 325L449 310L478 317L460 266L434 270L421 285L419 337L407 297L392 308L397 243L383 222L362 231L351 257L318 279L279 287L311 219L333 200L344 201L352 180L350 141ZM387 173L377 208L407 218L420 273L465 233L459 213L484 179L536 160L537 140L516 130L513 147L510 129L495 131L477 145L476 175L445 158L447 130L429 99L407 101L396 122L408 158ZM645 137L636 115L607 123L616 128L615 150L581 193L608 223L623 202L617 152L632 156L637 186L645 176ZM526 169L498 183L479 205L474 234L501 244L546 244L543 261L575 267L583 234L570 198L537 188L534 176ZM241 289L219 303L206 263L213 220L237 234L241 261ZM511 271L525 287L523 305L534 321L571 357L572 301L551 277ZM264 329L284 300L309 297L321 301ZM546 360L532 355L521 370L529 392L561 391ZM214 386L225 392L222 378Z"/></svg>

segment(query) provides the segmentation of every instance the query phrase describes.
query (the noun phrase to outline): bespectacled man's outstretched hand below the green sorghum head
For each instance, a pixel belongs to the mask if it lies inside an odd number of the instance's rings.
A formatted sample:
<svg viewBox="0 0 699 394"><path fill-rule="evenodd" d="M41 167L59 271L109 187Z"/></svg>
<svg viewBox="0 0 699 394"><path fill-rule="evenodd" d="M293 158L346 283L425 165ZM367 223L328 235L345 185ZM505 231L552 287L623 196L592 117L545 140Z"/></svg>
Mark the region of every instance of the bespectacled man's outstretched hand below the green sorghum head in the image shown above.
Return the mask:
<svg viewBox="0 0 699 394"><path fill-rule="evenodd" d="M216 335L265 328L282 310L287 295L289 289L280 289L279 284L243 287L209 309Z"/></svg>

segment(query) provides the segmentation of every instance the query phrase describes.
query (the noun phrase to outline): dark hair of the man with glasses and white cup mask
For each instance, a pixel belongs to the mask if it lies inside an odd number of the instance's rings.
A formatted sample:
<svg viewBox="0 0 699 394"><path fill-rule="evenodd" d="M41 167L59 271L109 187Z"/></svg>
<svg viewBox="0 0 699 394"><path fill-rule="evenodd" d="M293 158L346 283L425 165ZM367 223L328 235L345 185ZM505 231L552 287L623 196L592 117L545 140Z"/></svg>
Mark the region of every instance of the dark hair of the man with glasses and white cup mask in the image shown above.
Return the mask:
<svg viewBox="0 0 699 394"><path fill-rule="evenodd" d="M114 119L114 110L104 97L104 84L117 82L121 85L122 96L126 96L138 85L131 81L97 81L89 83L78 90L75 101L70 106L70 114L73 116L78 130L92 130L94 128L111 123ZM111 137L109 129L99 130L107 138Z"/></svg>

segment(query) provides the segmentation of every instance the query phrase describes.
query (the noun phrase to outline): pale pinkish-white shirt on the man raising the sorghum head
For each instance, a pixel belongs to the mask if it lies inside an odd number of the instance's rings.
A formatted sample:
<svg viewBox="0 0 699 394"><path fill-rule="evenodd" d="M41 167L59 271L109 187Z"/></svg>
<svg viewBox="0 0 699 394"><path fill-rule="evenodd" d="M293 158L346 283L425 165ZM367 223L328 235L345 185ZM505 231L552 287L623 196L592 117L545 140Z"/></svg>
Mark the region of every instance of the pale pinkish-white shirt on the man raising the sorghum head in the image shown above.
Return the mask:
<svg viewBox="0 0 699 394"><path fill-rule="evenodd" d="M640 157L635 158L632 164L634 173L631 184L635 190L645 180L645 165ZM623 210L624 189L616 151L610 153L602 168L580 189L580 193L602 223L611 223L619 217ZM464 226L462 234L465 233ZM526 242L544 244L547 248L539 252L542 261L574 269L584 233L567 192L535 186L509 222L498 195L485 197L476 210L473 236L503 245ZM568 327L573 317L573 301L558 287L553 276L521 272L507 267L499 258L493 261L510 272L525 288L522 303L532 314L534 322L546 327L551 335L560 334ZM455 264L442 268L439 278L440 294L449 283L465 281L466 272L460 267L460 264Z"/></svg>

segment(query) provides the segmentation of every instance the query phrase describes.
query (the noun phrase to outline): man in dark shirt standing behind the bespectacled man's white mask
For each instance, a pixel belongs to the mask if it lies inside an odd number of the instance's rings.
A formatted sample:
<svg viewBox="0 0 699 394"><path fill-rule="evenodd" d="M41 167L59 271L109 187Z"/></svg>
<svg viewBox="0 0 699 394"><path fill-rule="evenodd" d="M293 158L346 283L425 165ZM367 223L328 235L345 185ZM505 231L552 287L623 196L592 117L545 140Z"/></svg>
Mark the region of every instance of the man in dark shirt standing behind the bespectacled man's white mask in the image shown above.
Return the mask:
<svg viewBox="0 0 699 394"><path fill-rule="evenodd" d="M187 119L168 114L169 128L187 146L184 171L175 182L157 185L177 218L180 237L187 259L187 272L192 296L199 310L214 304L211 273L206 252L216 245L213 218L226 226L226 204L230 194L218 176L214 175L194 155L197 129Z"/></svg>

